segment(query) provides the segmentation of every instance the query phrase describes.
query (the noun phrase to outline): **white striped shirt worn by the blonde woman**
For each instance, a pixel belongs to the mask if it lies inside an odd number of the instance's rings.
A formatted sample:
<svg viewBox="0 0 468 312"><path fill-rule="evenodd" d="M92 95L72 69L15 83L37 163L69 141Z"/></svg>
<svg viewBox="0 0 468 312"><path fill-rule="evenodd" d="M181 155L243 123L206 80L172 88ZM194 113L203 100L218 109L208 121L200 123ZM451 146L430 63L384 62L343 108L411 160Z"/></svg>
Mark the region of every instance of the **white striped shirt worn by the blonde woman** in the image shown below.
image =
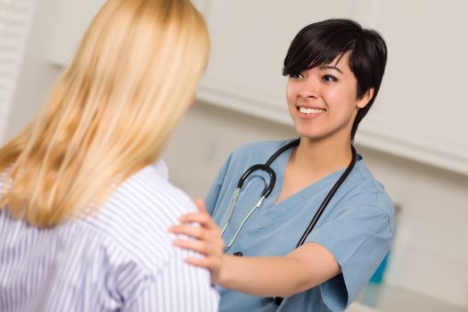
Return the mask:
<svg viewBox="0 0 468 312"><path fill-rule="evenodd" d="M0 311L218 310L209 272L168 233L195 209L158 161L88 218L39 229L0 210Z"/></svg>

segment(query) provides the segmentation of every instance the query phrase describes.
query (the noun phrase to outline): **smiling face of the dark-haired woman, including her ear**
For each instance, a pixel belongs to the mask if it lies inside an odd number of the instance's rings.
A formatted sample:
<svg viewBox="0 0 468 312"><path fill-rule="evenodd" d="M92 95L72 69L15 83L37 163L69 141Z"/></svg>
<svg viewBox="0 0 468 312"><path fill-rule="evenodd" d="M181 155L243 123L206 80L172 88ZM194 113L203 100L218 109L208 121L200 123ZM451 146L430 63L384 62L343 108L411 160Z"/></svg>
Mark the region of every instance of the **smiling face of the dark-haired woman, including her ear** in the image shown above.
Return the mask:
<svg viewBox="0 0 468 312"><path fill-rule="evenodd" d="M349 69L349 53L327 65L290 76L286 87L291 118L301 137L323 140L337 137L350 141L357 111L372 97L357 99L357 79Z"/></svg>

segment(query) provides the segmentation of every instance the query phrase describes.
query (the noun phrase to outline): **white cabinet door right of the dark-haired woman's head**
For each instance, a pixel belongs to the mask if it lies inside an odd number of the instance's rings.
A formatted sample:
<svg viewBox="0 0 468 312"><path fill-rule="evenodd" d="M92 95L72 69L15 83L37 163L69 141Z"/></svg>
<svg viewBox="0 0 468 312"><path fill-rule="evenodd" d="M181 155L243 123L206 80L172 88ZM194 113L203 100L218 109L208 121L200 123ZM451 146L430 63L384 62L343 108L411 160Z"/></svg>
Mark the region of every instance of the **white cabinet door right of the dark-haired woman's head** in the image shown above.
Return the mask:
<svg viewBox="0 0 468 312"><path fill-rule="evenodd" d="M468 2L380 1L389 62L359 141L468 175Z"/></svg>

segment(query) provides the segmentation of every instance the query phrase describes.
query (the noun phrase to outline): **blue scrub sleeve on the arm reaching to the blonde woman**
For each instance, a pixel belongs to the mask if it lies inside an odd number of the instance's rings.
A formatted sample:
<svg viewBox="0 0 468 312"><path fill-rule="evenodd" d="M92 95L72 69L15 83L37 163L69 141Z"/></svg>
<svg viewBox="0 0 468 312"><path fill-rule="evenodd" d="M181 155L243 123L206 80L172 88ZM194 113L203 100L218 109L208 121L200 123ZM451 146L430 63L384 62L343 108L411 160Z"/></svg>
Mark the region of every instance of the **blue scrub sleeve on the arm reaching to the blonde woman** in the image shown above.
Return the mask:
<svg viewBox="0 0 468 312"><path fill-rule="evenodd" d="M323 245L341 267L341 275L320 286L333 311L349 306L390 250L393 205L386 194L373 196L375 205L349 202L308 236L307 242Z"/></svg>

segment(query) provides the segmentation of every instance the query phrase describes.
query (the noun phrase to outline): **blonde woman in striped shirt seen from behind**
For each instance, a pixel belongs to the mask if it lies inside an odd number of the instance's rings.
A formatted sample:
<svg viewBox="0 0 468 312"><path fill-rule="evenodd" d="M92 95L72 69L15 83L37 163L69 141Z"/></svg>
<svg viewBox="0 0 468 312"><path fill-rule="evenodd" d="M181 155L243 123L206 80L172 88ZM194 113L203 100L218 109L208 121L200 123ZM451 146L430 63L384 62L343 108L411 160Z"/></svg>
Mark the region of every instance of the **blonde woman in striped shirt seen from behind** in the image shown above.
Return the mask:
<svg viewBox="0 0 468 312"><path fill-rule="evenodd" d="M195 211L158 158L209 36L188 0L109 0L43 111L0 149L0 310L212 311L167 228Z"/></svg>

